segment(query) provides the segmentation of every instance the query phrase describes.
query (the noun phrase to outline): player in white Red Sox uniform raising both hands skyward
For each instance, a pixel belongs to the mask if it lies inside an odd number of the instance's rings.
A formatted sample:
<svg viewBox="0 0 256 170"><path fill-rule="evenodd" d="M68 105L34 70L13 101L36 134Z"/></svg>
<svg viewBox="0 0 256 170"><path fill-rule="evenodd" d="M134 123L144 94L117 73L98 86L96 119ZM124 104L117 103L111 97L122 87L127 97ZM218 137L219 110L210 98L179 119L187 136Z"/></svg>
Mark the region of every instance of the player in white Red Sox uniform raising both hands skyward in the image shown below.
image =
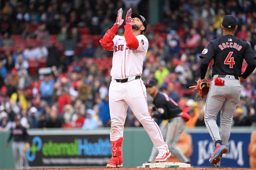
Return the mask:
<svg viewBox="0 0 256 170"><path fill-rule="evenodd" d="M107 164L108 168L122 167L122 142L128 106L159 151L155 162L164 162L171 156L159 127L148 113L146 87L141 80L143 60L148 50L148 39L143 35L147 29L147 22L143 16L132 13L130 8L126 14L124 36L115 35L124 21L122 13L123 10L120 8L116 23L100 40L103 48L113 50L110 72L112 81L109 86L112 158Z"/></svg>

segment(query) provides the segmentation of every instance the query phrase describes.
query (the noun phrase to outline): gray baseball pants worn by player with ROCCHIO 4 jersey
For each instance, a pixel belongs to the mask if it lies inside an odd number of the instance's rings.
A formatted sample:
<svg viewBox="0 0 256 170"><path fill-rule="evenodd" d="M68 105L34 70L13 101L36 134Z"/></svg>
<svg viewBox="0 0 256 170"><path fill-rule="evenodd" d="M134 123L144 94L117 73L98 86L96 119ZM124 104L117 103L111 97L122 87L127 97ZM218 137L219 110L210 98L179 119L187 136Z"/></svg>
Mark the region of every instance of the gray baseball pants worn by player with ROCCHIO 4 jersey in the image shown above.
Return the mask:
<svg viewBox="0 0 256 170"><path fill-rule="evenodd" d="M214 85L215 78L210 86L210 90L205 104L205 125L212 137L213 142L222 140L224 145L228 144L233 114L240 100L241 85L240 78L236 80L232 75L226 75L224 86ZM220 113L220 130L216 124L218 112Z"/></svg>

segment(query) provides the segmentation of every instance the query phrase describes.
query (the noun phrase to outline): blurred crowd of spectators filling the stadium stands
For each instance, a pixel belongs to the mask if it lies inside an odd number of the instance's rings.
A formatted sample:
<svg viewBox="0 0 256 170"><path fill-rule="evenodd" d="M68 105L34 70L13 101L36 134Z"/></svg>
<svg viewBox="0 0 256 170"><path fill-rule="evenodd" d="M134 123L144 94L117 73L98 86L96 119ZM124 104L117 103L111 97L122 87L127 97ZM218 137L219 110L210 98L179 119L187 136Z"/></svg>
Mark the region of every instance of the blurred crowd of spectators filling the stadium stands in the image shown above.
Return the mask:
<svg viewBox="0 0 256 170"><path fill-rule="evenodd" d="M99 40L114 24L119 8L131 7L148 18L147 3L1 1L1 129L10 129L15 116L20 116L27 128L110 126L108 87L113 54L105 51ZM159 89L189 113L187 128L204 126L205 99L197 100L196 92L188 88L199 78L198 56L209 41L222 35L220 24L226 14L236 16L236 36L256 51L255 9L255 0L164 0L161 22L148 23L149 48L142 79L157 78ZM117 34L124 34L122 26ZM243 71L245 68L246 63ZM211 74L206 76L212 79ZM256 71L242 83L234 126L256 126L255 78ZM148 103L152 104L150 96ZM141 126L130 109L125 126Z"/></svg>

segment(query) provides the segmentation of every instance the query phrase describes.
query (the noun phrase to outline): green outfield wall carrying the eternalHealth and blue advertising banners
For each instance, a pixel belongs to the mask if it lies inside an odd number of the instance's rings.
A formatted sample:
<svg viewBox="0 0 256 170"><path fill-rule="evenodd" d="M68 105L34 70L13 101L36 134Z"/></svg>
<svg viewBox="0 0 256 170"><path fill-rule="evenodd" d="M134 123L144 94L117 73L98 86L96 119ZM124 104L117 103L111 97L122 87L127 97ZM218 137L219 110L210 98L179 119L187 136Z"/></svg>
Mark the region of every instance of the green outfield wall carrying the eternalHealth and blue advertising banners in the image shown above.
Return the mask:
<svg viewBox="0 0 256 170"><path fill-rule="evenodd" d="M27 151L31 168L105 167L111 157L109 128L29 129L31 149ZM252 138L255 128L233 128L223 156L224 167L250 167L256 148ZM14 169L12 146L5 147L9 131L0 131L0 169ZM205 127L186 129L179 147L194 167L209 166L212 141ZM125 128L123 142L124 167L137 167L148 161L152 142L143 128ZM250 146L250 147L249 147ZM248 152L252 150L252 152ZM175 158L174 158L175 159ZM255 158L256 160L256 158Z"/></svg>

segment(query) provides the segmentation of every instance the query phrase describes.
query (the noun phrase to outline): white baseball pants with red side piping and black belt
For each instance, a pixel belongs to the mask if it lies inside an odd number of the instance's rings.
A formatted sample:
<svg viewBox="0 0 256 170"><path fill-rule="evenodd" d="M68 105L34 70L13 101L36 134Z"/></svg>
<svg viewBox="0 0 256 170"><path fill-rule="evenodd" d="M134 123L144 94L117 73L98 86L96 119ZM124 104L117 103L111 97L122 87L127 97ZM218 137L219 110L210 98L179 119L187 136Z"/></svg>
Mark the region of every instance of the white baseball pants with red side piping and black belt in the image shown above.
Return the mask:
<svg viewBox="0 0 256 170"><path fill-rule="evenodd" d="M160 129L148 113L147 93L144 82L140 79L118 83L112 79L109 86L109 110L111 117L110 140L123 137L124 122L128 106L143 125L159 152L169 152Z"/></svg>

